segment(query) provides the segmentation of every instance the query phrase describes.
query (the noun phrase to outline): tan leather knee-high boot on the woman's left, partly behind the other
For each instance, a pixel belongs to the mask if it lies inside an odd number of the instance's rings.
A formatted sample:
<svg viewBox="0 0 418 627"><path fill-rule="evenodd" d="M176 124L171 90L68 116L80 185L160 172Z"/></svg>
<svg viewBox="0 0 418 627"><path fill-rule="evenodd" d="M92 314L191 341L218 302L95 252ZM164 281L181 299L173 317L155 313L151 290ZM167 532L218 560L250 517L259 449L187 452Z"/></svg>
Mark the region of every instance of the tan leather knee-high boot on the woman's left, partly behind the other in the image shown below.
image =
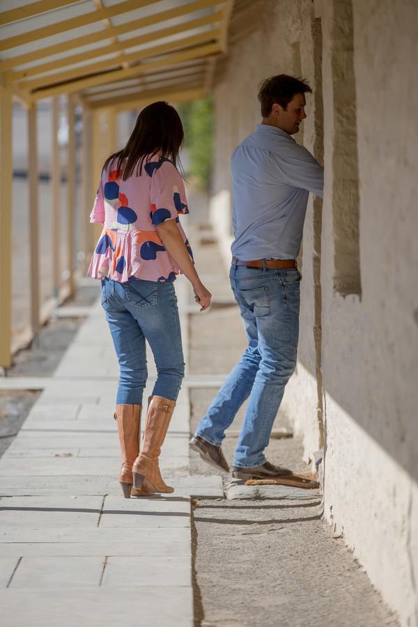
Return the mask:
<svg viewBox="0 0 418 627"><path fill-rule="evenodd" d="M125 499L129 499L132 490L132 464L139 453L139 430L141 428L141 405L116 405L114 419L118 423L119 443L121 444L122 465L119 473L119 483ZM149 490L143 486L142 490L133 494L148 494Z"/></svg>

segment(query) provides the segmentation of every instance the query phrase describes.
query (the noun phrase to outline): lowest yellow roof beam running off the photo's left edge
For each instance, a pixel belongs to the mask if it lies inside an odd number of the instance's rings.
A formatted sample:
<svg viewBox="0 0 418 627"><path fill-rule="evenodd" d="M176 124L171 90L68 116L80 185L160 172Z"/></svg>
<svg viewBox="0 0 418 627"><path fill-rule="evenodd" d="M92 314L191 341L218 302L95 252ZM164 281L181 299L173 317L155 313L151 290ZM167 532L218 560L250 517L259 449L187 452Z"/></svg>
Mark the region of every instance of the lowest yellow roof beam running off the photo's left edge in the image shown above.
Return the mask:
<svg viewBox="0 0 418 627"><path fill-rule="evenodd" d="M121 24L120 26L112 26L112 28L105 31L105 33L104 31L90 33L89 35L76 37L74 39L63 41L59 44L45 46L38 50L33 50L32 52L26 52L25 54L13 56L11 59L3 59L0 61L0 70L10 70L18 65L33 63L33 61L38 61L38 59L47 59L48 56L52 56L54 54L61 54L61 52L75 50L82 46L100 42L104 38L111 38L111 36L116 37L118 35L130 33L131 31L146 28L146 26L152 26L159 24L160 22L165 22L166 20L172 20L175 17L181 17L182 15L188 15L189 13L211 8L217 4L219 4L219 0L197 0L196 2L191 2L176 8L161 11L160 13L153 13L153 15L149 15L148 17L141 17L139 20L133 20L132 22L127 22L126 24Z"/></svg>

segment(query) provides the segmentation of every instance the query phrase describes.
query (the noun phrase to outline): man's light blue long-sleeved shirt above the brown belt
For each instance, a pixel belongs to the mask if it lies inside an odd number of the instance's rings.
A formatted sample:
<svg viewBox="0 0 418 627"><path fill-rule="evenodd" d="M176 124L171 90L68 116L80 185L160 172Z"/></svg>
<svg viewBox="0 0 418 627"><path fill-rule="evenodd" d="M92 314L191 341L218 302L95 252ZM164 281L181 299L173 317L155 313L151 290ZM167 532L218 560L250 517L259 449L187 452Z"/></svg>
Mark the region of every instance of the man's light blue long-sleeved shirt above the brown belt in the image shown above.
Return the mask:
<svg viewBox="0 0 418 627"><path fill-rule="evenodd" d="M285 131L258 124L231 157L232 254L295 259L309 192L323 196L323 167Z"/></svg>

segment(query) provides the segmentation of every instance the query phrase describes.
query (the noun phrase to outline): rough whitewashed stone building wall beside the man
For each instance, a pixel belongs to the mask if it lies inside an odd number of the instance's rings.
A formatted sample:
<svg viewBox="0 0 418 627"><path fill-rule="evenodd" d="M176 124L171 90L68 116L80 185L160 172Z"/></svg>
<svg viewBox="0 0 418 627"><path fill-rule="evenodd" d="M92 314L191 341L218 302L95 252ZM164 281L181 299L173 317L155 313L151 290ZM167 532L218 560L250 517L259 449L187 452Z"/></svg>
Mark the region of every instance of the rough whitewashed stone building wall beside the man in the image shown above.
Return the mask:
<svg viewBox="0 0 418 627"><path fill-rule="evenodd" d="M418 625L418 3L235 2L216 70L211 216L229 264L229 157L258 84L309 80L297 141L325 165L300 254L299 360L282 410L324 449L325 520L403 626Z"/></svg>

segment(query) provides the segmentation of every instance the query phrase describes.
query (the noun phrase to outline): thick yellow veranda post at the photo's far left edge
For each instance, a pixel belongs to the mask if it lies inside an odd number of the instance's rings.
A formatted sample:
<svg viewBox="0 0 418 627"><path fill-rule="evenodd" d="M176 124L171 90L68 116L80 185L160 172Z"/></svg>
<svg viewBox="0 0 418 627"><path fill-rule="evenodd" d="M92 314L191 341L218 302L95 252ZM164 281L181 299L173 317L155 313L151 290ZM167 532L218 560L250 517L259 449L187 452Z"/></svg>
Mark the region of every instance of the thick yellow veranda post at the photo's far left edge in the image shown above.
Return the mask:
<svg viewBox="0 0 418 627"><path fill-rule="evenodd" d="M12 334L12 88L0 75L0 366L11 364Z"/></svg>

